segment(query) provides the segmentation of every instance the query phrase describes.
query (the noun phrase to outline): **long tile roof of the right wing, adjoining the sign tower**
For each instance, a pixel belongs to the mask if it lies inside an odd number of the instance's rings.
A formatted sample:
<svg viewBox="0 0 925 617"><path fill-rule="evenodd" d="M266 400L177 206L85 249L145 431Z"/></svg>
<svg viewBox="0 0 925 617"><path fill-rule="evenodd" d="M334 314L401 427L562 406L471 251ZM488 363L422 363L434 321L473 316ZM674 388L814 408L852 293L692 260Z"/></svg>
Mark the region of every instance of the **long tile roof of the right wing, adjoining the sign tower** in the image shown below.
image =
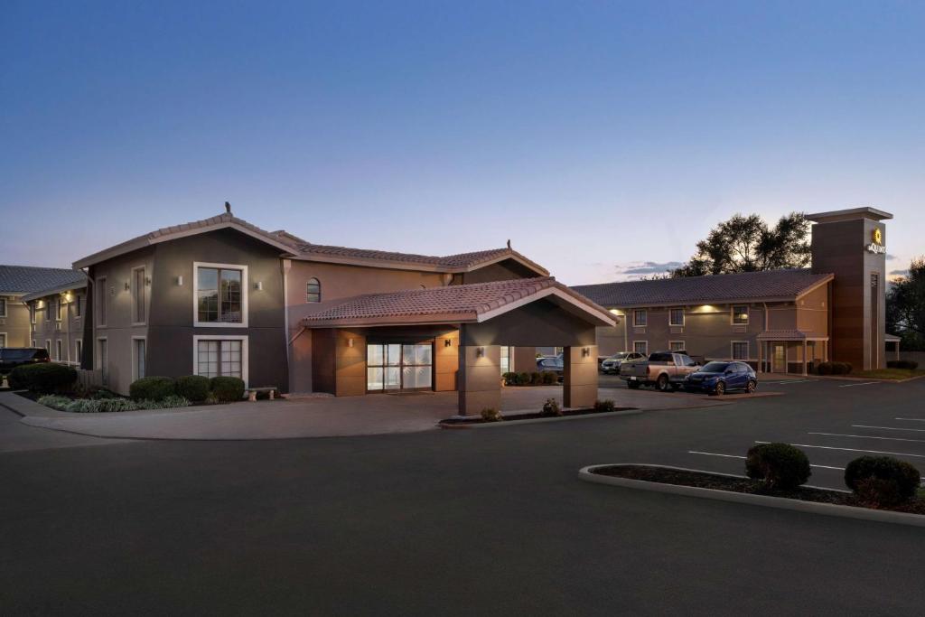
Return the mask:
<svg viewBox="0 0 925 617"><path fill-rule="evenodd" d="M709 277L659 278L623 283L577 285L572 289L603 306L631 307L667 304L793 299L829 279L808 269L766 270Z"/></svg>

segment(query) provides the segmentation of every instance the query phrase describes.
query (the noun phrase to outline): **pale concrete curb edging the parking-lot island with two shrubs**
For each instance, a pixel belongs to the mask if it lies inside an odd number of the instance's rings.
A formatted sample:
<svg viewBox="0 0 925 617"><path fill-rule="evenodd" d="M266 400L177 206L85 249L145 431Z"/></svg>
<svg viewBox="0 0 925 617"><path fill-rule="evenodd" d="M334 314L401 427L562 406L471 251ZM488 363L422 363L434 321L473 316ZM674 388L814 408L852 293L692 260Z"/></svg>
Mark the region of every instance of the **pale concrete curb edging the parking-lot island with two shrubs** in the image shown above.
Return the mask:
<svg viewBox="0 0 925 617"><path fill-rule="evenodd" d="M598 475L591 473L592 470L600 467L613 467L616 465L624 466L646 466L660 467L662 469L674 469L676 471L690 471L701 474L712 474L699 469L685 469L685 467L672 467L671 465L643 465L642 463L608 463L598 465L587 465L582 467L578 472L578 477L586 482L595 484L606 484L611 487L638 488L655 493L670 493L673 495L684 495L685 497L697 497L707 500L732 501L733 503L745 503L753 506L765 506L767 508L777 508L779 510L791 510L795 512L808 512L811 514L822 514L823 516L841 516L843 518L853 518L862 521L876 521L878 523L907 524L916 527L925 527L925 516L921 514L910 514L908 512L890 512L885 510L870 510L869 508L857 508L855 506L841 506L834 503L817 503L815 501L790 500L784 497L771 497L770 495L752 495L749 493L734 493L727 490L716 488L684 487L673 484L661 484L658 482L648 482L646 480L632 480L623 477L613 477L611 475ZM713 474L740 477L730 474ZM843 491L838 491L843 492Z"/></svg>

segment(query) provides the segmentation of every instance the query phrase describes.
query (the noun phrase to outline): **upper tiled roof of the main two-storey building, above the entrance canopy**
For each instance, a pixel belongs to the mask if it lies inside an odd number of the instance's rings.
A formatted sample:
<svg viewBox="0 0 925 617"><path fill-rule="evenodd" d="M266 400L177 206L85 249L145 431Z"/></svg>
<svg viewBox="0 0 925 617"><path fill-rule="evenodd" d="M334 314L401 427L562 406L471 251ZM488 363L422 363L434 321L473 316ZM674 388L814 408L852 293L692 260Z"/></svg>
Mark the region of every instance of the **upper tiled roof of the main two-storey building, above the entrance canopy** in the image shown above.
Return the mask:
<svg viewBox="0 0 925 617"><path fill-rule="evenodd" d="M428 270L433 272L468 272L478 267L512 259L536 272L536 274L549 275L541 265L530 261L524 255L517 253L510 246L475 253L458 253L454 255L437 256L421 255L415 253L396 253L392 251L378 251L376 249L352 249L345 246L332 246L327 244L313 244L304 241L285 229L266 231L248 223L242 218L225 213L203 220L174 225L171 227L155 229L129 241L124 241L108 249L93 253L74 262L75 268L97 264L117 255L136 251L158 242L176 240L216 229L232 228L245 233L260 241L265 241L276 247L281 256L304 261L318 261L334 264L368 265L393 269Z"/></svg>

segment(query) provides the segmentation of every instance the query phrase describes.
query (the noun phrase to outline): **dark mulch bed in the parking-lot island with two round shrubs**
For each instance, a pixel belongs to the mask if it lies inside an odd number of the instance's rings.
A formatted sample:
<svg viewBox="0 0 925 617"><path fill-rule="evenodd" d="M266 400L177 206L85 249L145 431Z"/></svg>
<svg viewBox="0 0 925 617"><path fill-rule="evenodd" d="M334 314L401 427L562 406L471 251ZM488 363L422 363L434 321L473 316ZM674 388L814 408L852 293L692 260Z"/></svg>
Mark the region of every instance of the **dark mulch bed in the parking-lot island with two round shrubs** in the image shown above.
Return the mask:
<svg viewBox="0 0 925 617"><path fill-rule="evenodd" d="M875 508L870 504L857 500L857 497L855 497L853 493L840 493L824 488L809 487L797 487L793 490L769 491L762 486L759 480L752 480L746 477L728 477L705 472L688 472L677 469L665 469L662 467L626 465L601 467L595 469L593 473L597 475L623 477L631 480L659 482L660 484L673 484L681 487L712 488L714 490L727 490L734 493L782 497L788 500L815 501L817 503L833 503L840 506L855 506L857 508L870 508L872 510L925 514L925 500L921 499L912 500L909 503L894 507Z"/></svg>

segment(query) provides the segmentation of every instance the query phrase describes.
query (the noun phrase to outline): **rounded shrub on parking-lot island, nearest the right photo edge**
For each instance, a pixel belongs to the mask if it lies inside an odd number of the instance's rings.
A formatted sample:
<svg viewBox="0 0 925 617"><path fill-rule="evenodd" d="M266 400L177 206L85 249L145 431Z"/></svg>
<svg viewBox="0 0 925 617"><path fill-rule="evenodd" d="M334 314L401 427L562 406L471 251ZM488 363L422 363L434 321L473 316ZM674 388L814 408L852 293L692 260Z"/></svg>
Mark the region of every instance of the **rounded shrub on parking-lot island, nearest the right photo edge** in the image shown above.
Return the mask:
<svg viewBox="0 0 925 617"><path fill-rule="evenodd" d="M891 456L862 456L845 467L845 484L873 506L911 500L921 483L919 470Z"/></svg>

